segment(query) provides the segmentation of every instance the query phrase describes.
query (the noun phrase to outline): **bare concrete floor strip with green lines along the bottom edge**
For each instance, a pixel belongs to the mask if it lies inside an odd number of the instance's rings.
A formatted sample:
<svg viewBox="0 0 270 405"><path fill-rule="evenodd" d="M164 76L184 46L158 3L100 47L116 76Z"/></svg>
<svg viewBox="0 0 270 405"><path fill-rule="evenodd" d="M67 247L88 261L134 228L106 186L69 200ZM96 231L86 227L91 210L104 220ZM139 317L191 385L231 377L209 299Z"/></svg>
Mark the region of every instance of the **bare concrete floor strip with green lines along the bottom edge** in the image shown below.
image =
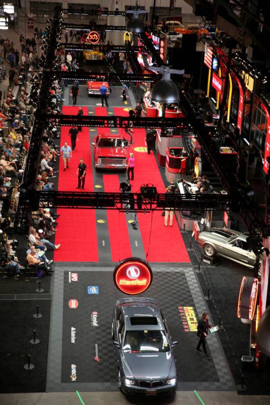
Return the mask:
<svg viewBox="0 0 270 405"><path fill-rule="evenodd" d="M177 392L174 398L126 398L121 392L81 392L82 401L75 392L0 394L1 405L268 405L269 397L245 396L236 392L198 392L201 402L194 392Z"/></svg>

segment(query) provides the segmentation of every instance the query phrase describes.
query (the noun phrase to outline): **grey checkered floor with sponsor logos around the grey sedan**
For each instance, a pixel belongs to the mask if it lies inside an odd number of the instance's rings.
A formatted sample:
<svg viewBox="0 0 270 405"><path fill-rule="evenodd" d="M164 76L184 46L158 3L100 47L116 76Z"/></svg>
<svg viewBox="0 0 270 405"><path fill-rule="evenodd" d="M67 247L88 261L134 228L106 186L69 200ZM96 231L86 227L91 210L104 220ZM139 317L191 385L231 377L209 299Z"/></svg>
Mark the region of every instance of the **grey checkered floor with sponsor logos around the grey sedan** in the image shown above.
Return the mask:
<svg viewBox="0 0 270 405"><path fill-rule="evenodd" d="M152 264L144 297L158 298L178 365L178 390L235 390L216 333L207 338L211 361L195 351L199 316L207 311L194 269ZM113 264L58 263L53 280L47 391L116 391L117 357L111 340L115 301Z"/></svg>

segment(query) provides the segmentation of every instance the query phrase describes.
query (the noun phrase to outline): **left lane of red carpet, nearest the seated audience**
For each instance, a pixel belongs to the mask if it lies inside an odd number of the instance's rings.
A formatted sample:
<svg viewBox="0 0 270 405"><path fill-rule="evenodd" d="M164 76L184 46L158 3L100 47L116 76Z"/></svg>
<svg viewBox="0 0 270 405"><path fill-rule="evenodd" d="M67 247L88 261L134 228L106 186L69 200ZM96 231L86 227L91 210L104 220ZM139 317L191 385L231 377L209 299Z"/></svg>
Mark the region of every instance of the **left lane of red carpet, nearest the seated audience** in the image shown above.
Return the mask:
<svg viewBox="0 0 270 405"><path fill-rule="evenodd" d="M62 111L63 114L77 114L78 107L63 106ZM88 114L87 107L83 107L83 111L84 115ZM70 145L69 129L70 127L61 128L60 146L65 141ZM63 171L63 162L60 159L58 190L76 190L78 185L76 170L80 159L83 158L87 165L85 190L93 191L90 148L89 128L82 127L76 149L72 152L69 169ZM55 262L98 262L95 211L92 209L58 209L57 213L61 216L57 219L59 225L55 243L61 243L61 246L54 252Z"/></svg>

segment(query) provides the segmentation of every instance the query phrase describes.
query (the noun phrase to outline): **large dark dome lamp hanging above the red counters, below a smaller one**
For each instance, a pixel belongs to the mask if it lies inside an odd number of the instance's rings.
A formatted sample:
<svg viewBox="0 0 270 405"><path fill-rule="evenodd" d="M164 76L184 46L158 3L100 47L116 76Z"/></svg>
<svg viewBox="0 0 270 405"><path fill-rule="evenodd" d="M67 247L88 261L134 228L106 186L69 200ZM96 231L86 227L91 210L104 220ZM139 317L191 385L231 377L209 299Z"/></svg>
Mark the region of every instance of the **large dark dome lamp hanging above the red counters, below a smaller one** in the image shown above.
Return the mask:
<svg viewBox="0 0 270 405"><path fill-rule="evenodd" d="M183 75L184 70L170 69L170 66L168 65L163 65L161 67L149 66L148 69L162 72L162 79L152 88L151 99L166 104L179 101L180 90L177 84L171 80L171 73Z"/></svg>

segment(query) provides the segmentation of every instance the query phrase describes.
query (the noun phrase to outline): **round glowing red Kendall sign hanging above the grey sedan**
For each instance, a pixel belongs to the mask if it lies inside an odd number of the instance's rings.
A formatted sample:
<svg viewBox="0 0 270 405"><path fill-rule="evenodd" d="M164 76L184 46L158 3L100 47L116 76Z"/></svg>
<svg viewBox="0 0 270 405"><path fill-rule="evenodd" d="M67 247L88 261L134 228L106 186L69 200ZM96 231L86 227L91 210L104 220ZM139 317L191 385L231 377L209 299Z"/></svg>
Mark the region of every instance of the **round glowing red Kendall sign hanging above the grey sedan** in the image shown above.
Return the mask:
<svg viewBox="0 0 270 405"><path fill-rule="evenodd" d="M151 285L152 270L148 263L138 257L129 257L119 263L113 271L113 281L125 294L141 294Z"/></svg>

